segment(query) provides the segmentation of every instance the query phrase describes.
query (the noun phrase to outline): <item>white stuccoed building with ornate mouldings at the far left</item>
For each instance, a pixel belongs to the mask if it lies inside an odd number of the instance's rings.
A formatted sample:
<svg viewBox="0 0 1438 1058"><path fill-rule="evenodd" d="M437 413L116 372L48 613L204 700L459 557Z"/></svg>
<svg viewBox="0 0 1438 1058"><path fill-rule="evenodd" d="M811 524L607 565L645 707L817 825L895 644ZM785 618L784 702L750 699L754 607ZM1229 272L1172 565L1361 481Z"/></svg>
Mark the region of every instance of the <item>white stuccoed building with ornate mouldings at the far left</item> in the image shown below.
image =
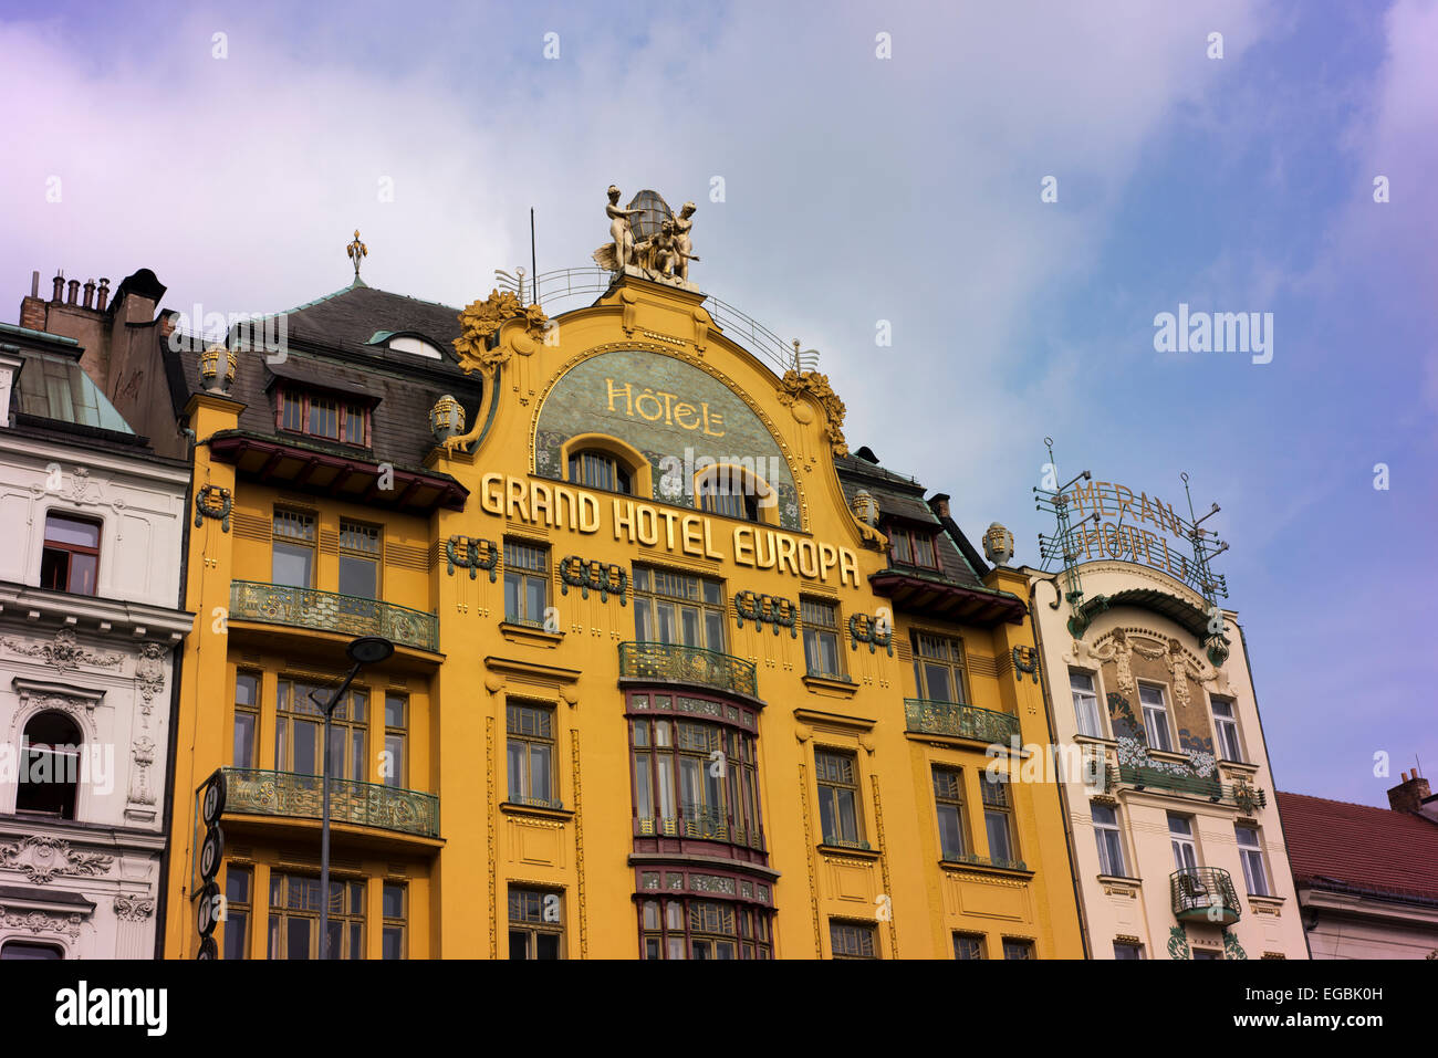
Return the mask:
<svg viewBox="0 0 1438 1058"><path fill-rule="evenodd" d="M188 472L82 352L0 323L0 960L155 956Z"/></svg>

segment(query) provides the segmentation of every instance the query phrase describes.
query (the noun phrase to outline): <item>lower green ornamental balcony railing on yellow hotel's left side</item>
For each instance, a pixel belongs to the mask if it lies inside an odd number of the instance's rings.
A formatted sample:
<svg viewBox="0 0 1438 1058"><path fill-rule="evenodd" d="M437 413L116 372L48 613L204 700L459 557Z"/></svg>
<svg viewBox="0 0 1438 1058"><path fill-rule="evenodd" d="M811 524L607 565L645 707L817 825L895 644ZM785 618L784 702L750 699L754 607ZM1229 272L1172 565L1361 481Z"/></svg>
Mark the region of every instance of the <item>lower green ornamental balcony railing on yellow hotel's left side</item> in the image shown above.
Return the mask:
<svg viewBox="0 0 1438 1058"><path fill-rule="evenodd" d="M255 768L226 768L224 811L237 815L276 815L318 819L322 812L321 778L298 772L262 772ZM433 794L397 789L351 779L329 781L329 819L357 827L375 827L401 834L437 838L440 799Z"/></svg>

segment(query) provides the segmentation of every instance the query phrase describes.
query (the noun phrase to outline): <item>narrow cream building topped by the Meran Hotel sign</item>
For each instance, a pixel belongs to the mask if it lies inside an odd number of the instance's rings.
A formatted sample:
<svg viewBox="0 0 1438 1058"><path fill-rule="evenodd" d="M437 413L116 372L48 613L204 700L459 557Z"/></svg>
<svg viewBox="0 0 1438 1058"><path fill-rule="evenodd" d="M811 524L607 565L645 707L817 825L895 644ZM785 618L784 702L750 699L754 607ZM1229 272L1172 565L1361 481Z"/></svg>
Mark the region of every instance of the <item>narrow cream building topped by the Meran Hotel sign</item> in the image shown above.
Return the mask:
<svg viewBox="0 0 1438 1058"><path fill-rule="evenodd" d="M1227 545L1087 472L1054 486L1024 572L1091 957L1307 957Z"/></svg>

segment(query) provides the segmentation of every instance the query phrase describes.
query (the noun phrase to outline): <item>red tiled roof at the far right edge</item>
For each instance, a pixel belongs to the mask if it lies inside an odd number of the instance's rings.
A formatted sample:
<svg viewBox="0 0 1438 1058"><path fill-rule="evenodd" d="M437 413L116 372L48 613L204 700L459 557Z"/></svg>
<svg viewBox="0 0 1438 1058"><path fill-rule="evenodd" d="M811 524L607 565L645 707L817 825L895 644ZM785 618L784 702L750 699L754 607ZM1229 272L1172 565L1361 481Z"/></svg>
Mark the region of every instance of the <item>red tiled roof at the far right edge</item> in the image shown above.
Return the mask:
<svg viewBox="0 0 1438 1058"><path fill-rule="evenodd" d="M1334 878L1438 900L1438 824L1391 808L1283 792L1278 814L1299 886Z"/></svg>

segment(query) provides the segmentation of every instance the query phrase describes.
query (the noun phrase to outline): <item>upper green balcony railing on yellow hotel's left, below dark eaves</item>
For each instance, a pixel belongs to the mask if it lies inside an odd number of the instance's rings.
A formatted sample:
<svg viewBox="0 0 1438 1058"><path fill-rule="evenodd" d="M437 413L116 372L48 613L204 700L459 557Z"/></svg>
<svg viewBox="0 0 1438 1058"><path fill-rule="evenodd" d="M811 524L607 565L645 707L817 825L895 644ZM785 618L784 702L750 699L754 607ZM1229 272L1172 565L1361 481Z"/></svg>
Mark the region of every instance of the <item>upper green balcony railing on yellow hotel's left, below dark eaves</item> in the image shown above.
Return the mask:
<svg viewBox="0 0 1438 1058"><path fill-rule="evenodd" d="M283 584L234 581L230 585L230 620L313 628L349 638L383 635L397 645L430 653L440 648L440 622L434 614Z"/></svg>

